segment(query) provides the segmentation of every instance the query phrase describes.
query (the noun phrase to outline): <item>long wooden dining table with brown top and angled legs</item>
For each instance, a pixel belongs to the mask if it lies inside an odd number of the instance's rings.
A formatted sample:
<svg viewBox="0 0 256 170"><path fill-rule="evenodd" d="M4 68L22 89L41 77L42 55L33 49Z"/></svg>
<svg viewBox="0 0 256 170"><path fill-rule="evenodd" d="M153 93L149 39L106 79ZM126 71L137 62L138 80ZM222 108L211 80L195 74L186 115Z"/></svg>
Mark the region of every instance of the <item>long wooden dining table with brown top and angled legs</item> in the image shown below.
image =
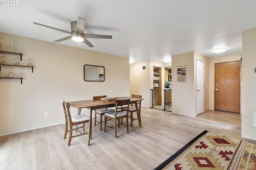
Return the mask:
<svg viewBox="0 0 256 170"><path fill-rule="evenodd" d="M135 104L137 115L140 116L138 113L138 105L136 104L139 100L144 100L142 98L132 98L132 97L118 97L116 100L126 100L130 99L130 104ZM100 99L94 99L94 100L80 100L80 101L73 101L68 102L70 106L78 108L78 114L81 113L82 108L87 108L90 110L89 115L89 128L88 128L88 146L90 145L90 139L92 139L92 111L96 109L103 109L106 107L115 107L115 100L100 100ZM140 120L140 117L138 117ZM140 121L139 125L141 127Z"/></svg>

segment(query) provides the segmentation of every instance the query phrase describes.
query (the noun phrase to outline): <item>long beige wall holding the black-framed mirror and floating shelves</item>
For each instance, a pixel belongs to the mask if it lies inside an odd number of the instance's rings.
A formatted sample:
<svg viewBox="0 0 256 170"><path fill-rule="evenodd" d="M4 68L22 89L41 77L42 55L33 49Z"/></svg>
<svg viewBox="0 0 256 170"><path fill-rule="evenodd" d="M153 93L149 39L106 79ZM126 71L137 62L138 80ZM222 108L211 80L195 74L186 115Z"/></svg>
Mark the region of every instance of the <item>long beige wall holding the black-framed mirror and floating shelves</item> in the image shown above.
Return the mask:
<svg viewBox="0 0 256 170"><path fill-rule="evenodd" d="M0 32L4 51L10 41L18 43L18 52L23 53L22 65L32 59L34 73L24 68L23 84L16 79L0 79L0 135L64 123L62 100L89 100L93 96L129 96L129 58L99 53L20 37ZM6 56L7 63L14 63L15 55ZM118 64L116 64L118 63ZM105 67L104 82L85 82L84 64ZM13 72L18 74L18 68ZM8 72L2 66L3 75ZM49 111L50 116L44 117ZM77 109L71 108L76 112ZM88 114L88 109L82 109Z"/></svg>

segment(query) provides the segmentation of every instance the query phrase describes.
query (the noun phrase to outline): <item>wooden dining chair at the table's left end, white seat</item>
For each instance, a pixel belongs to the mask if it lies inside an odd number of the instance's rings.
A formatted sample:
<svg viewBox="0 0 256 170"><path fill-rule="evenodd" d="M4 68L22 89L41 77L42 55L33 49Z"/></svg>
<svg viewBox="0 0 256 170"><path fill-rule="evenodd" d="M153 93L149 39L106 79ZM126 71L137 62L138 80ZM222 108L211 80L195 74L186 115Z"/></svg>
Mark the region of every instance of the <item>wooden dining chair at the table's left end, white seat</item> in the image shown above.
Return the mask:
<svg viewBox="0 0 256 170"><path fill-rule="evenodd" d="M66 139L67 133L69 132L69 139L68 139L68 146L69 146L70 143L71 143L71 139L73 137L78 137L78 136L81 136L81 135L88 134L88 132L84 131L84 128L85 128L85 123L89 123L89 117L87 115L85 115L85 114L80 114L80 115L72 116L70 114L69 103L65 102L64 100L62 102L62 106L63 106L63 109L64 109L65 122L66 122L64 139ZM69 130L68 130L68 124L69 124ZM82 126L79 127L78 125L81 125L81 124L82 124ZM76 128L73 129L73 126L75 126L75 125L77 125L77 126L76 126ZM83 133L79 130L80 128L83 128ZM74 130L79 131L80 134L72 136L72 132Z"/></svg>

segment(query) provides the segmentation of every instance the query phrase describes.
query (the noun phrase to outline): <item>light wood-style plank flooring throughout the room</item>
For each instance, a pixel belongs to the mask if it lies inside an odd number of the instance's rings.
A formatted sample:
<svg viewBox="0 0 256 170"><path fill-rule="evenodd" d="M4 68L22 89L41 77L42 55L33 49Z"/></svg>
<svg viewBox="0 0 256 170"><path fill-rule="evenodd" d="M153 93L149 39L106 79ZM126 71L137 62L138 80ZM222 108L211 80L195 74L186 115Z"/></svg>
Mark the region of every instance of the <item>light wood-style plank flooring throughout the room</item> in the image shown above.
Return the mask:
<svg viewBox="0 0 256 170"><path fill-rule="evenodd" d="M135 115L135 114L134 114ZM92 127L68 147L64 124L0 137L1 170L152 170L204 130L241 138L241 115L206 111L196 117L142 107L142 127L134 121L129 132ZM63 115L64 120L64 115ZM130 121L129 121L130 125ZM88 127L88 125L87 125Z"/></svg>

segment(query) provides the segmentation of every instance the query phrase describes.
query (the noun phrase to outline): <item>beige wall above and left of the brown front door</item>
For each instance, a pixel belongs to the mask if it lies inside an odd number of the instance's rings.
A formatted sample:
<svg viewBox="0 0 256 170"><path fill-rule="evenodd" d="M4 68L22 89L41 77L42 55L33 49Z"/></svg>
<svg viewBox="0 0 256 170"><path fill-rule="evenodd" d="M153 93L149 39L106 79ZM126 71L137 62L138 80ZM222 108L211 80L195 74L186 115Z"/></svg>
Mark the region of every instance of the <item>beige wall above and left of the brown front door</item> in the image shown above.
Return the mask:
<svg viewBox="0 0 256 170"><path fill-rule="evenodd" d="M229 61L240 61L240 59L241 59L241 54L210 58L210 60L209 60L209 109L210 110L214 110L215 63L224 63L224 62L229 62Z"/></svg>

